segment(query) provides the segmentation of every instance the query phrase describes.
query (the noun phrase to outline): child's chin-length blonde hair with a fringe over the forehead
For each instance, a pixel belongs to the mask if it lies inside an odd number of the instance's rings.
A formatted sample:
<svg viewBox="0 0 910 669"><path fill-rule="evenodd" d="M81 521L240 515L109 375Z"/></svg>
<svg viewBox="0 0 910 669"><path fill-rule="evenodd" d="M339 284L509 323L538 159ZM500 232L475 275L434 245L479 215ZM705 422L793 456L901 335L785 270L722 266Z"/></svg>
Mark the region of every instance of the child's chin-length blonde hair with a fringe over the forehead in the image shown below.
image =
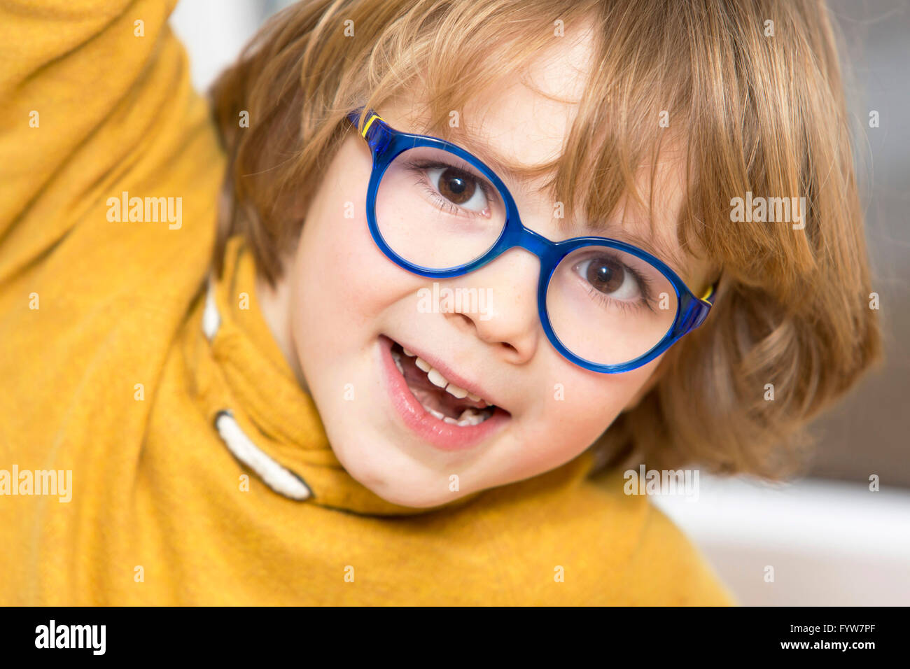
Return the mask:
<svg viewBox="0 0 910 669"><path fill-rule="evenodd" d="M346 24L346 21L353 22ZM803 461L810 417L880 355L833 25L821 2L753 0L315 0L268 21L213 86L229 157L215 263L241 234L269 282L293 245L346 115L421 90L445 136L450 110L593 27L594 66L554 201L605 220L641 199L666 111L684 145L682 248L723 269L711 316L594 448L604 462L690 462L767 478ZM768 21L773 22L773 36ZM556 26L556 27L554 27ZM347 36L353 27L354 36ZM241 110L250 127L238 127ZM680 131L682 128L682 131ZM804 229L733 223L733 198L803 197ZM773 400L767 398L773 384Z"/></svg>

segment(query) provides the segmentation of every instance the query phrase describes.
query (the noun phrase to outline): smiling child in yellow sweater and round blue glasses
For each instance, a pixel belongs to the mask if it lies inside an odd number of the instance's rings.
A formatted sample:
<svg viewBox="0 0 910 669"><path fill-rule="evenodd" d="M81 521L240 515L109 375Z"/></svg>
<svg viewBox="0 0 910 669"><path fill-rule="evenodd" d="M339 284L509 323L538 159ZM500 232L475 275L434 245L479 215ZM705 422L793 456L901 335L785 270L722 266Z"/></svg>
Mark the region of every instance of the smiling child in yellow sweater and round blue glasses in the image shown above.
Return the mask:
<svg viewBox="0 0 910 669"><path fill-rule="evenodd" d="M213 119L173 4L0 9L0 601L733 603L624 471L877 356L824 6L305 1Z"/></svg>

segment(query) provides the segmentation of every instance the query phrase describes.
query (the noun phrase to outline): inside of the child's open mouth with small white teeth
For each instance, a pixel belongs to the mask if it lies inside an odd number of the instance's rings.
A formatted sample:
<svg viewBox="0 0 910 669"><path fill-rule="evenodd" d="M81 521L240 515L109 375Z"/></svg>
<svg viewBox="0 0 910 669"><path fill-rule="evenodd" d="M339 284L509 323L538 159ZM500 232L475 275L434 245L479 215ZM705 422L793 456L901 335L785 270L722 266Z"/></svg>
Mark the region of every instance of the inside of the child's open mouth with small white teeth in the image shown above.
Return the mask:
<svg viewBox="0 0 910 669"><path fill-rule="evenodd" d="M488 421L496 413L494 404L450 382L440 370L397 341L392 341L389 352L411 393L439 421L470 427Z"/></svg>

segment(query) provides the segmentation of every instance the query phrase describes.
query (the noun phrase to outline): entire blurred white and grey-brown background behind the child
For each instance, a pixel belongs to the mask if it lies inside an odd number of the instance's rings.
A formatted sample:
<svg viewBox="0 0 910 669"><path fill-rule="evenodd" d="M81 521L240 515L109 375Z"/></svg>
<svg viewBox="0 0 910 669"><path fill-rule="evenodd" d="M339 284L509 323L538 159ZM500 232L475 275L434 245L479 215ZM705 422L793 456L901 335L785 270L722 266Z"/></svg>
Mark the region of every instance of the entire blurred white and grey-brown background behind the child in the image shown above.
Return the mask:
<svg viewBox="0 0 910 669"><path fill-rule="evenodd" d="M180 0L171 17L205 90L293 0ZM813 426L806 478L702 477L655 497L743 604L910 605L910 0L829 0L843 36L885 364ZM869 127L877 111L879 127ZM877 476L878 492L869 490ZM766 567L773 567L773 582Z"/></svg>

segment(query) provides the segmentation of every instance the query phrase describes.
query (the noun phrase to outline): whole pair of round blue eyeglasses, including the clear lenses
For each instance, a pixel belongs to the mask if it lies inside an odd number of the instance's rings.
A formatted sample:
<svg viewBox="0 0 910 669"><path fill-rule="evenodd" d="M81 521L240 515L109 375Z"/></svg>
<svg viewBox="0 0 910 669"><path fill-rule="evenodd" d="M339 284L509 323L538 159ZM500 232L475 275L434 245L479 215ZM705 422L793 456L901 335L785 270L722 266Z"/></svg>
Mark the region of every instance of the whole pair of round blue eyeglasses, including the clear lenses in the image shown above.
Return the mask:
<svg viewBox="0 0 910 669"><path fill-rule="evenodd" d="M355 127L363 109L349 114ZM716 284L699 299L647 251L603 237L551 241L521 223L515 200L480 158L438 137L399 132L369 110L369 232L400 267L432 279L480 269L510 248L540 259L537 308L547 339L585 370L650 362L700 326Z"/></svg>

